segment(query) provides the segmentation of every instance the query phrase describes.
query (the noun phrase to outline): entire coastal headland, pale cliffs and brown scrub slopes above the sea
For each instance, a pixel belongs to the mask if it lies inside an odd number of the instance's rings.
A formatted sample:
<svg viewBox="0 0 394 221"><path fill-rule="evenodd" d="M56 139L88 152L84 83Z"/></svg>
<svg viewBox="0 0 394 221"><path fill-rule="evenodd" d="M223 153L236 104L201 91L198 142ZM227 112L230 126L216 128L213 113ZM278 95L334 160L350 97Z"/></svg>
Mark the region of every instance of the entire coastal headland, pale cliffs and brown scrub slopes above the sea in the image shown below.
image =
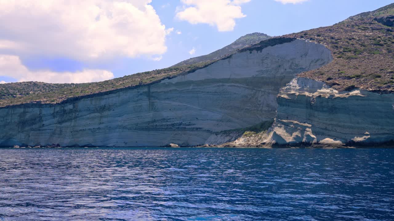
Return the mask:
<svg viewBox="0 0 394 221"><path fill-rule="evenodd" d="M216 60L4 99L0 146L390 145L393 13L390 4Z"/></svg>

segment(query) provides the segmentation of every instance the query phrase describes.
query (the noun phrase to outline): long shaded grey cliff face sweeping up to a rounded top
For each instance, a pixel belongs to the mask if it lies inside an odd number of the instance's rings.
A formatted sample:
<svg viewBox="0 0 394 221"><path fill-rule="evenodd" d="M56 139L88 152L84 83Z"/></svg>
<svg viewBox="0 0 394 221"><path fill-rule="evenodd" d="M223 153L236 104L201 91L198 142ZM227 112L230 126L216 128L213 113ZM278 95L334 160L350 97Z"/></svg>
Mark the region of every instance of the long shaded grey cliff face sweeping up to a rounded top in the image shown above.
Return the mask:
<svg viewBox="0 0 394 221"><path fill-rule="evenodd" d="M295 40L246 51L149 86L64 103L0 109L0 146L195 146L271 121L280 88L332 61L321 44Z"/></svg>

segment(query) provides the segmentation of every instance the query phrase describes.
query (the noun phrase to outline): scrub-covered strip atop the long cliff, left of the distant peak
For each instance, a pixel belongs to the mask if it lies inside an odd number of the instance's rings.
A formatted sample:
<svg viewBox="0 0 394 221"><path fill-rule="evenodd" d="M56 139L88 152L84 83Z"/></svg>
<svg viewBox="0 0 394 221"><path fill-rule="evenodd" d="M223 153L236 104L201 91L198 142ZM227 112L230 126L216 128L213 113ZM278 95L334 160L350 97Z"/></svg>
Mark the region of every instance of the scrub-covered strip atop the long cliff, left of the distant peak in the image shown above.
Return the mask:
<svg viewBox="0 0 394 221"><path fill-rule="evenodd" d="M68 98L83 97L90 94L139 85L148 85L165 78L193 72L213 62L215 61L164 68L94 83L48 84L30 81L1 84L0 107L22 103L59 103Z"/></svg>

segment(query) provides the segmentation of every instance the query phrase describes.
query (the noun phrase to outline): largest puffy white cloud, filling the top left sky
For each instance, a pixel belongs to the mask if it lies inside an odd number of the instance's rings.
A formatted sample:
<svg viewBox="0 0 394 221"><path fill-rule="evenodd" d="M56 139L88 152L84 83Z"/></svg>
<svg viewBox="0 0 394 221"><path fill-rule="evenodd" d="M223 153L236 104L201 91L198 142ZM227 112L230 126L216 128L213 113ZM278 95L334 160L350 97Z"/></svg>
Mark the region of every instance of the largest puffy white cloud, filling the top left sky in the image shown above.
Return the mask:
<svg viewBox="0 0 394 221"><path fill-rule="evenodd" d="M0 0L0 53L82 61L160 55L151 0Z"/></svg>

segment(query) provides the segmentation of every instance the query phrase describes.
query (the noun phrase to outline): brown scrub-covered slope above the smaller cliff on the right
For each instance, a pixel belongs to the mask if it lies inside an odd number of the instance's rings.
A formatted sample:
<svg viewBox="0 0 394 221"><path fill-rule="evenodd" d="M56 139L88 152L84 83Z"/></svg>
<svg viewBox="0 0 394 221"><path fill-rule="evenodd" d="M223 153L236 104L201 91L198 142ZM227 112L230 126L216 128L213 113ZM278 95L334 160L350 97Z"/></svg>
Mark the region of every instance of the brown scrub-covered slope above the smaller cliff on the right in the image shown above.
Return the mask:
<svg viewBox="0 0 394 221"><path fill-rule="evenodd" d="M394 15L394 4L333 26L282 36L324 44L333 54L332 63L298 76L324 81L336 90L394 92L394 27L374 19L387 15Z"/></svg>

